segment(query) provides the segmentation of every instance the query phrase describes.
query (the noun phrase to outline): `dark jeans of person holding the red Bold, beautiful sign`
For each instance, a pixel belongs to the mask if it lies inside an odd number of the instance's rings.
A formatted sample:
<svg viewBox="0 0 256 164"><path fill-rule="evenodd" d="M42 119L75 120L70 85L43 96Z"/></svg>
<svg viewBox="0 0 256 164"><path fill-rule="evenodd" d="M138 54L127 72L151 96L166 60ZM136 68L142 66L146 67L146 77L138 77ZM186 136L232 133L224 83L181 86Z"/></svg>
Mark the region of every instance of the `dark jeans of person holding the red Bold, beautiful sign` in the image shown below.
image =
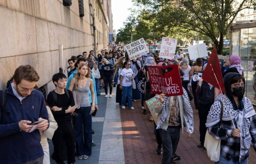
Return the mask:
<svg viewBox="0 0 256 164"><path fill-rule="evenodd" d="M162 164L171 164L180 140L180 126L168 126L167 130L160 129L163 142Z"/></svg>

